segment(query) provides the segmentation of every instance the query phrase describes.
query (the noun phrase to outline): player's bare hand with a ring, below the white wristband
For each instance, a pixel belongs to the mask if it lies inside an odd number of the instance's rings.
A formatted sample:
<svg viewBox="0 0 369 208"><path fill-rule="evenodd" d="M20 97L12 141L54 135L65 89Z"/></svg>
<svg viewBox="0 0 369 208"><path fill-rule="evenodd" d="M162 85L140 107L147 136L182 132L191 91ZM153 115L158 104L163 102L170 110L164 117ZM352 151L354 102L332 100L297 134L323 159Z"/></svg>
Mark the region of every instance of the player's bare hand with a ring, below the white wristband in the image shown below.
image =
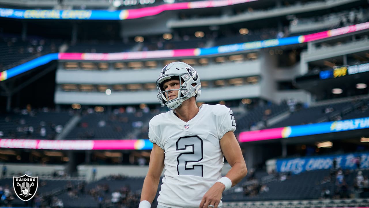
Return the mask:
<svg viewBox="0 0 369 208"><path fill-rule="evenodd" d="M222 193L225 189L225 185L216 182L203 196L199 208L217 208L222 198ZM208 207L214 205L214 207Z"/></svg>

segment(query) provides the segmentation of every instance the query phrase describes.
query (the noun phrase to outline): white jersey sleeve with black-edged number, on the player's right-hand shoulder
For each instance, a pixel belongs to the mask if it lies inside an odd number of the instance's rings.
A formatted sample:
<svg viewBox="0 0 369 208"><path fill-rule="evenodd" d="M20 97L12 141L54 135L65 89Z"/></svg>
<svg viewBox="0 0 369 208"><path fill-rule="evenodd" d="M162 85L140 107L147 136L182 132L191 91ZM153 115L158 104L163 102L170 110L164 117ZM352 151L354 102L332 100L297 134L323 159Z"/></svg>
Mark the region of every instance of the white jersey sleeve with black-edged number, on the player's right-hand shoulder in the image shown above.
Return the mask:
<svg viewBox="0 0 369 208"><path fill-rule="evenodd" d="M219 115L218 124L218 139L220 140L225 133L228 131L236 130L236 120L234 118L233 112L230 108L225 107L221 110Z"/></svg>

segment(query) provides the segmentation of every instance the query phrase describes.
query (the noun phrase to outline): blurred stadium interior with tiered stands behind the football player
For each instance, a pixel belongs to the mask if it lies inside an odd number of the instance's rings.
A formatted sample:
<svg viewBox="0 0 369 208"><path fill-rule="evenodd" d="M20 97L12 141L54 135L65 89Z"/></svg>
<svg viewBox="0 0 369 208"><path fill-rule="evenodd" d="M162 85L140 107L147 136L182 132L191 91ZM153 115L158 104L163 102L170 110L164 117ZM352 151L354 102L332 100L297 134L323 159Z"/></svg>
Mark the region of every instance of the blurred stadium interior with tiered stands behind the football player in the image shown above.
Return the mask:
<svg viewBox="0 0 369 208"><path fill-rule="evenodd" d="M368 10L0 0L0 207L138 207L148 123L168 111L156 78L173 61L199 73L199 106L234 113L248 175L223 208L369 207ZM28 202L13 188L24 174L39 177Z"/></svg>

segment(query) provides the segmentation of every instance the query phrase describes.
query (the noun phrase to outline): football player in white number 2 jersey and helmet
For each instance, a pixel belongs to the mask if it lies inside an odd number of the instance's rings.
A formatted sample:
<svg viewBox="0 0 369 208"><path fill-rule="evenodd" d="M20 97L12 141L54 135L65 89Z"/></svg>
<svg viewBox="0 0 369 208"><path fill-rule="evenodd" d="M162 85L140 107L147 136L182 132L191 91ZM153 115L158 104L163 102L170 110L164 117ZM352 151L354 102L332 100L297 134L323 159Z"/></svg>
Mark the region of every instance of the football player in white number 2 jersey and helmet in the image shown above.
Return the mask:
<svg viewBox="0 0 369 208"><path fill-rule="evenodd" d="M167 113L149 123L154 143L139 208L150 208L165 168L158 208L217 208L222 193L247 174L241 148L234 135L232 110L224 105L196 105L200 77L188 64L173 62L156 80L158 99ZM221 177L223 156L231 165Z"/></svg>

